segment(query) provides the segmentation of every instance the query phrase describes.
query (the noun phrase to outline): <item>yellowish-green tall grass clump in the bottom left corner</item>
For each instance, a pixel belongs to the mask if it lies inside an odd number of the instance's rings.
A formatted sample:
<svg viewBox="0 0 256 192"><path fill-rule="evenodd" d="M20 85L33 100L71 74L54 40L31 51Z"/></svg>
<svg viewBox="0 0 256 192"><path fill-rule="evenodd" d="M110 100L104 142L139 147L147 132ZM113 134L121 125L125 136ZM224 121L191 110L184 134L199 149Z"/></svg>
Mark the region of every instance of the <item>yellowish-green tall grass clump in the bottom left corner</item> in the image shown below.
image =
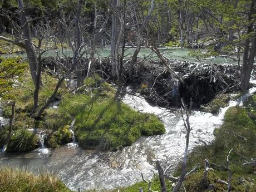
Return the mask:
<svg viewBox="0 0 256 192"><path fill-rule="evenodd" d="M72 192L56 176L34 175L27 170L0 167L1 192Z"/></svg>

